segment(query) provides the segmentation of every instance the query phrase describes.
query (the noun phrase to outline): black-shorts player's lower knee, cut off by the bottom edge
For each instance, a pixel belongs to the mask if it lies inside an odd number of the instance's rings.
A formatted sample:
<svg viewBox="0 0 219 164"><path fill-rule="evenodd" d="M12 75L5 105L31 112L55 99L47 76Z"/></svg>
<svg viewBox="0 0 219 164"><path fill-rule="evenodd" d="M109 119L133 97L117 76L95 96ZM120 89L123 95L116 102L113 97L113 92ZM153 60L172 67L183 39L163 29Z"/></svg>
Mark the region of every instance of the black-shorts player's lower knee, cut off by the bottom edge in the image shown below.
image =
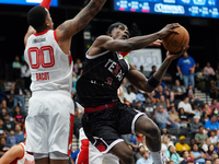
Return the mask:
<svg viewBox="0 0 219 164"><path fill-rule="evenodd" d="M124 141L114 145L110 152L116 155L122 164L135 164L134 152Z"/></svg>

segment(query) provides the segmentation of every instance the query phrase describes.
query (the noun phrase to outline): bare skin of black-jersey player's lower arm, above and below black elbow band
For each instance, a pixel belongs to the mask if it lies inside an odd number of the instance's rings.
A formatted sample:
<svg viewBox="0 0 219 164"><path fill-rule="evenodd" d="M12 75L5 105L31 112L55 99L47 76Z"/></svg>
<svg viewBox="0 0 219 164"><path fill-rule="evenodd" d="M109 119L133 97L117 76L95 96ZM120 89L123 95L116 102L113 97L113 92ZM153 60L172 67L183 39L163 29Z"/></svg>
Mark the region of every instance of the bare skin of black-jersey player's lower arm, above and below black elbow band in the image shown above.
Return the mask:
<svg viewBox="0 0 219 164"><path fill-rule="evenodd" d="M171 65L171 62L174 59L178 58L181 55L183 55L186 51L186 49L187 49L187 47L184 48L184 50L182 50L177 55L171 55L168 51L166 52L166 58L164 59L163 63L158 69L158 71L153 74L153 78L157 81L162 81L163 75L165 74L165 72L166 72L169 66ZM145 91L145 92L152 92L154 90L154 87L149 85L148 80L145 78L145 75L142 73L140 73L139 71L137 71L131 63L129 63L129 65L130 65L130 70L126 75L126 78L129 80L129 82L132 83L138 89Z"/></svg>

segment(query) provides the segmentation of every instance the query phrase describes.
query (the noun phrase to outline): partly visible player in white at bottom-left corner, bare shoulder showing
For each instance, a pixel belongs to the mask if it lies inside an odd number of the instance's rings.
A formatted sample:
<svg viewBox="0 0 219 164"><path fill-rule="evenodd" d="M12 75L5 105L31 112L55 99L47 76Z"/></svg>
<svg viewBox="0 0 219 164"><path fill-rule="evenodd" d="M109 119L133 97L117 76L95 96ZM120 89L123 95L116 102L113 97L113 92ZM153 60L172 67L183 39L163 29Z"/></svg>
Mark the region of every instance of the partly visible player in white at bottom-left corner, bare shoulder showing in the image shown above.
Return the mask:
<svg viewBox="0 0 219 164"><path fill-rule="evenodd" d="M26 138L25 133L24 138ZM21 142L3 154L0 164L34 164L34 155L27 153L25 143Z"/></svg>

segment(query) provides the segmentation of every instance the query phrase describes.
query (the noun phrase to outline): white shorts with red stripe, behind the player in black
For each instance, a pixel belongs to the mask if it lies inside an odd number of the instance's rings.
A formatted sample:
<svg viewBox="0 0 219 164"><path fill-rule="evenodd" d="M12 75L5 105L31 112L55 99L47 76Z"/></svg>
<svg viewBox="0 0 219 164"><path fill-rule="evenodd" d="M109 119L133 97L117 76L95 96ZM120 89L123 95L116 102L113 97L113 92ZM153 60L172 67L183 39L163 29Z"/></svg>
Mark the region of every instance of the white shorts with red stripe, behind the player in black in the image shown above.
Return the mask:
<svg viewBox="0 0 219 164"><path fill-rule="evenodd" d="M80 129L79 137L80 153L76 164L119 164L117 156L112 153L101 153L85 137L83 128Z"/></svg>

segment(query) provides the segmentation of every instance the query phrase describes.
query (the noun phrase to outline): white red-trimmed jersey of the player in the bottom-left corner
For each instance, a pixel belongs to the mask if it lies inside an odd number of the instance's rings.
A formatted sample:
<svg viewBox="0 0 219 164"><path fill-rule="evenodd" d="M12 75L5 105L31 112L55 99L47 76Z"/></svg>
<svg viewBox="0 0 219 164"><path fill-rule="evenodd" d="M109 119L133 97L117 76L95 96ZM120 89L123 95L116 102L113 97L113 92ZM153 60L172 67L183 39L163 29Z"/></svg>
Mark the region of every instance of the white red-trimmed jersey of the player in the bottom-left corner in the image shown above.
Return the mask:
<svg viewBox="0 0 219 164"><path fill-rule="evenodd" d="M25 144L22 142L22 143L20 143L22 147L23 147L23 149L24 149L24 152L23 152L23 155L22 155L22 157L20 157L20 159L16 159L16 160L14 160L11 164L34 164L35 162L34 162L34 155L32 155L32 154L28 154L25 150L26 150L26 147L25 147Z"/></svg>

